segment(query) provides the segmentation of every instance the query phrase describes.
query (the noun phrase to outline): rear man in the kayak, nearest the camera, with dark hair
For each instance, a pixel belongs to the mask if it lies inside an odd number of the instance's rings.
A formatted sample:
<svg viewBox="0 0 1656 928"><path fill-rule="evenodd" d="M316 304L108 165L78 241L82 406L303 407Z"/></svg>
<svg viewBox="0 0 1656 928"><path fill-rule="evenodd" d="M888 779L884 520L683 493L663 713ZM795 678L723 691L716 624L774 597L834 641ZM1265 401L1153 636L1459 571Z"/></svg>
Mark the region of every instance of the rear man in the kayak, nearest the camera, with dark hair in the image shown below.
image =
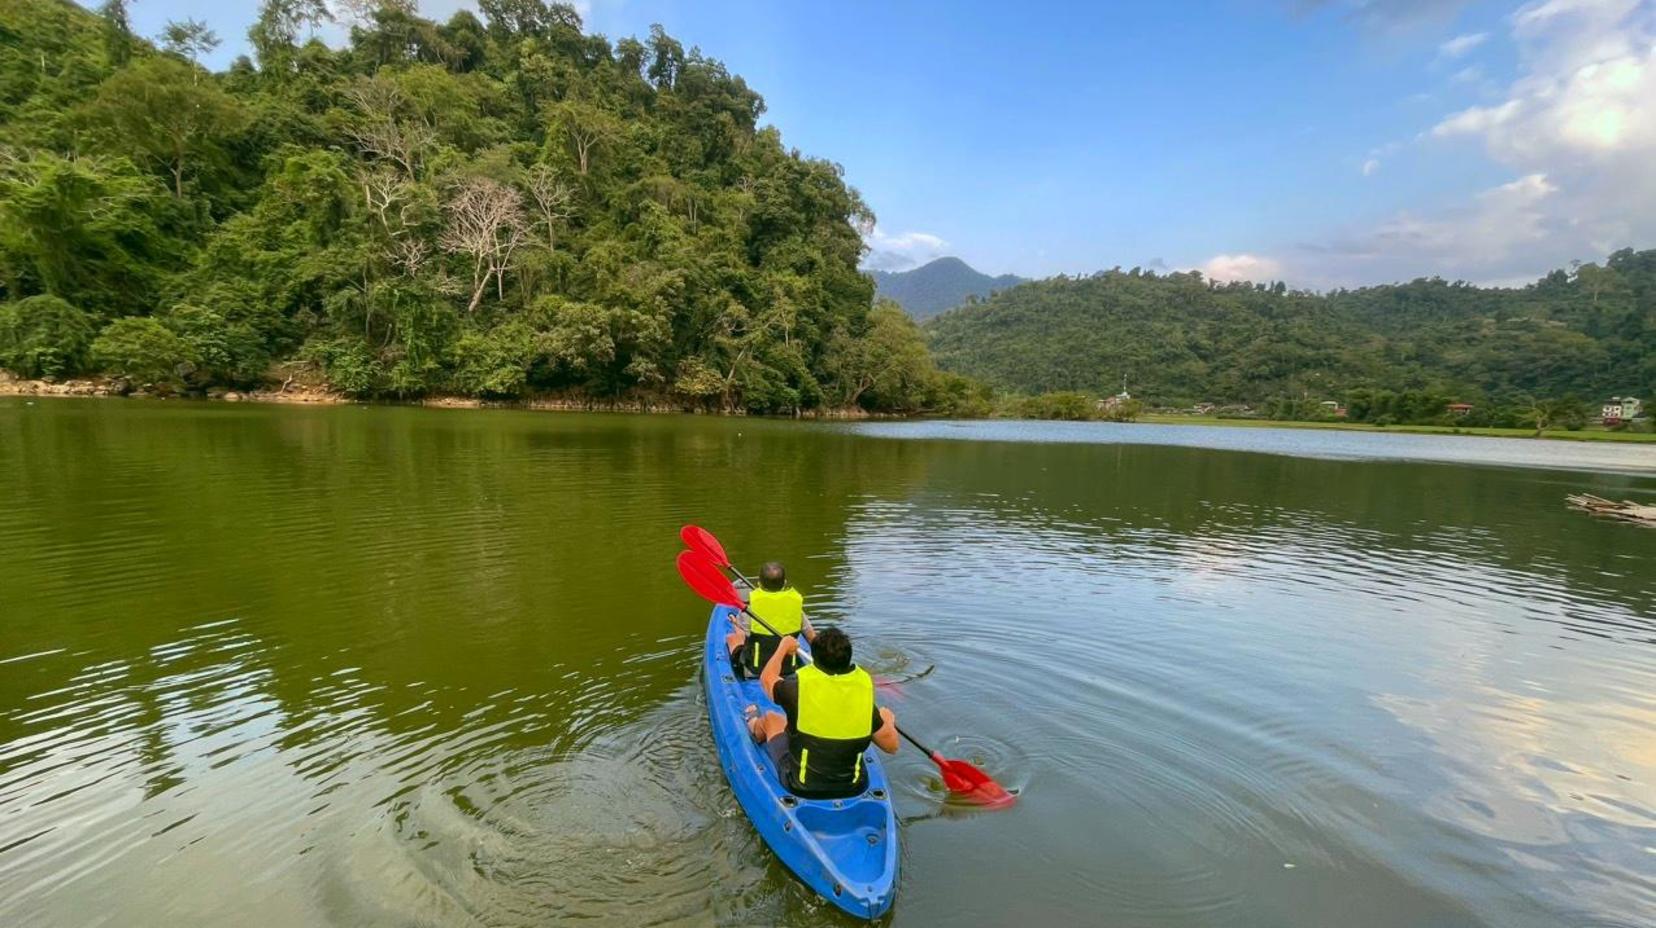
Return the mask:
<svg viewBox="0 0 1656 928"><path fill-rule="evenodd" d="M806 799L856 795L868 789L868 744L898 752L898 719L874 704L874 678L851 663L845 631L825 628L811 638L815 663L783 678L783 665L795 661L798 650L800 640L788 635L765 663L758 684L782 713L757 714L757 706L749 706L749 732L770 752L788 792Z"/></svg>

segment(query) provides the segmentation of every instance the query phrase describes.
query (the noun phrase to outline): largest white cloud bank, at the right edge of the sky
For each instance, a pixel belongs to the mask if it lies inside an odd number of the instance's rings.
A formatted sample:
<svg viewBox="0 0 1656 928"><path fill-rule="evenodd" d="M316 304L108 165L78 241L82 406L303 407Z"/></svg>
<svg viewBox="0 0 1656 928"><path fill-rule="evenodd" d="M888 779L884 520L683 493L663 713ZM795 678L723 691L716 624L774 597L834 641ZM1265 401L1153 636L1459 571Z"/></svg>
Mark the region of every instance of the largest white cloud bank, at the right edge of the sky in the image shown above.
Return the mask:
<svg viewBox="0 0 1656 928"><path fill-rule="evenodd" d="M1512 181L1278 252L1295 283L1533 280L1656 242L1656 0L1535 2L1509 25L1512 83L1477 81L1499 96L1444 114L1418 141L1477 144ZM1379 159L1370 152L1365 174Z"/></svg>

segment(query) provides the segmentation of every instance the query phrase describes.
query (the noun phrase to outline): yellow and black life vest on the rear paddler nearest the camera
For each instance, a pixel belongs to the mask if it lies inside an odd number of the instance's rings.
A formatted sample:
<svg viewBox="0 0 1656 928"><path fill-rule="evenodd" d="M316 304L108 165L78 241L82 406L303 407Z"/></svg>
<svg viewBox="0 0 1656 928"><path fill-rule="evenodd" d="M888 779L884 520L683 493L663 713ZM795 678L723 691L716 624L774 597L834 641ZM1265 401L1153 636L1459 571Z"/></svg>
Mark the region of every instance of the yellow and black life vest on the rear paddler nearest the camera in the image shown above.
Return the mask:
<svg viewBox="0 0 1656 928"><path fill-rule="evenodd" d="M806 665L798 679L798 714L788 737L790 789L854 794L863 787L863 751L874 736L874 678L859 666L823 673Z"/></svg>

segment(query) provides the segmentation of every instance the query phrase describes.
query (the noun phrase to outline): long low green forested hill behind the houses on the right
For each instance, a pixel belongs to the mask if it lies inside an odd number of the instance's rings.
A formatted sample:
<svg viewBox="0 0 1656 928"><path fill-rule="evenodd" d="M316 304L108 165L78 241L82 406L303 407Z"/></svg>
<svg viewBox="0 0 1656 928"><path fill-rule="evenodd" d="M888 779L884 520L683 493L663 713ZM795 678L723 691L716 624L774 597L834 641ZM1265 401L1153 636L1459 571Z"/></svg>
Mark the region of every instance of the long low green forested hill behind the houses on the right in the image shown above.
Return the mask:
<svg viewBox="0 0 1656 928"><path fill-rule="evenodd" d="M946 370L1159 403L1656 394L1656 250L1517 290L1442 280L1305 293L1138 268L1025 283L927 323Z"/></svg>

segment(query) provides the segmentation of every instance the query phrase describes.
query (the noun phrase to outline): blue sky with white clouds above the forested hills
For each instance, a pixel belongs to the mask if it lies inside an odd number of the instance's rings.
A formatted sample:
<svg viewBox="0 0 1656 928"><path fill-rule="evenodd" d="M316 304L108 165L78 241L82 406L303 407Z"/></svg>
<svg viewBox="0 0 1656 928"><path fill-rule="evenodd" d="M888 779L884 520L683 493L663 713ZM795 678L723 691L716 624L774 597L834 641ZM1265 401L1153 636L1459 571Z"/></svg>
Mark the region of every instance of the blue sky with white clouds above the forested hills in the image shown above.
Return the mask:
<svg viewBox="0 0 1656 928"><path fill-rule="evenodd" d="M1656 247L1656 0L578 7L747 78L879 215L869 265L1325 288ZM132 20L205 20L224 65L253 12L137 0Z"/></svg>

